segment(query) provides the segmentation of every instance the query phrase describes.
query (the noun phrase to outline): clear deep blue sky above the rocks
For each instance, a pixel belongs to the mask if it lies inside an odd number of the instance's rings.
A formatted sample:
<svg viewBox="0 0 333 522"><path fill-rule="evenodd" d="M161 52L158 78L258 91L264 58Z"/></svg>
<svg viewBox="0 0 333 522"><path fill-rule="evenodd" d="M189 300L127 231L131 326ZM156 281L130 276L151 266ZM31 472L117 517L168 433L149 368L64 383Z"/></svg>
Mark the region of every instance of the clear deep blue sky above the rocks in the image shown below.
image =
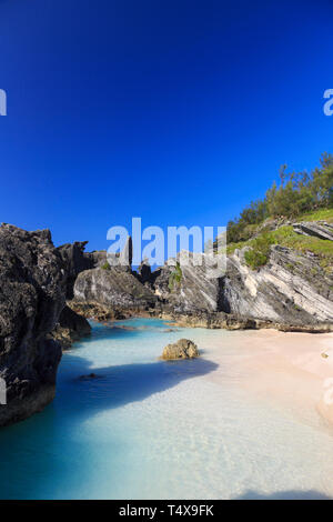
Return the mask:
<svg viewBox="0 0 333 522"><path fill-rule="evenodd" d="M226 224L333 152L332 61L332 0L0 0L0 220Z"/></svg>

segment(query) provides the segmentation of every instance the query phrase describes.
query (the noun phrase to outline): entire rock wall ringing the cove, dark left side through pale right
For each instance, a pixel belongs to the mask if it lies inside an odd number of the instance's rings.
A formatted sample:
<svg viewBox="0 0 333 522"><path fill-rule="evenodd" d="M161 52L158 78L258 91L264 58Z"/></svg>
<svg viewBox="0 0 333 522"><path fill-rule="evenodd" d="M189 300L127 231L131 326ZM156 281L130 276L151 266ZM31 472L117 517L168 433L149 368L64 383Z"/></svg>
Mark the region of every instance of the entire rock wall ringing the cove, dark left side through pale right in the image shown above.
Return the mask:
<svg viewBox="0 0 333 522"><path fill-rule="evenodd" d="M53 247L48 230L0 227L0 379L7 405L0 425L40 411L54 396L61 347L90 327L69 308L100 320L134 313L173 318L205 328L271 327L295 331L333 329L333 238L331 223L273 227L269 248L254 242L229 252L225 275L181 258L151 271L111 267L105 252L85 253L85 243ZM252 257L249 252L252 251ZM253 265L259 260L258 267ZM193 259L192 259L193 261Z"/></svg>

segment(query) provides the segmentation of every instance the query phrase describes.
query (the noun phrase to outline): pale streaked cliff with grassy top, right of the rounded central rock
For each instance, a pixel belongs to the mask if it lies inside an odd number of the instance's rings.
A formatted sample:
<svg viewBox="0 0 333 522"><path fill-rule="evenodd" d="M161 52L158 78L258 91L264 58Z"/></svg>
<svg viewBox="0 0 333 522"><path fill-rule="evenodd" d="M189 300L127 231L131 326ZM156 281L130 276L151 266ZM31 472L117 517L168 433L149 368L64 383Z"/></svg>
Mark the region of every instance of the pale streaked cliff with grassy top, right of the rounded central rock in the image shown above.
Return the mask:
<svg viewBox="0 0 333 522"><path fill-rule="evenodd" d="M190 263L174 281L174 267L165 264L149 283L182 324L253 328L255 320L256 328L327 331L333 328L333 227L304 222L290 229L273 229L278 235L258 268L246 260L250 242L228 255L223 277L211 279L204 267ZM299 243L297 234L311 241ZM274 244L283 243L281 237L292 248Z"/></svg>

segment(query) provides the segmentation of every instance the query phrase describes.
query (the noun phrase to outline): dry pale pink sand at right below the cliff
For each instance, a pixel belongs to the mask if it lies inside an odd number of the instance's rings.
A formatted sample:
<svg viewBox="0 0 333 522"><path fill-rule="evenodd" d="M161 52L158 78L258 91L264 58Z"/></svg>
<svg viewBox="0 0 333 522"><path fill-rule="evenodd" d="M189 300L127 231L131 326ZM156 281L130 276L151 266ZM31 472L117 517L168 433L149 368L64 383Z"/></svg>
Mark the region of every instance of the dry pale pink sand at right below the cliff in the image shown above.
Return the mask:
<svg viewBox="0 0 333 522"><path fill-rule="evenodd" d="M214 341L203 334L201 343L206 347L204 357L216 363L222 362L225 347L235 348L232 364L240 385L292 408L303 420L315 409L321 422L333 426L333 333L228 332ZM219 384L223 368L208 379Z"/></svg>

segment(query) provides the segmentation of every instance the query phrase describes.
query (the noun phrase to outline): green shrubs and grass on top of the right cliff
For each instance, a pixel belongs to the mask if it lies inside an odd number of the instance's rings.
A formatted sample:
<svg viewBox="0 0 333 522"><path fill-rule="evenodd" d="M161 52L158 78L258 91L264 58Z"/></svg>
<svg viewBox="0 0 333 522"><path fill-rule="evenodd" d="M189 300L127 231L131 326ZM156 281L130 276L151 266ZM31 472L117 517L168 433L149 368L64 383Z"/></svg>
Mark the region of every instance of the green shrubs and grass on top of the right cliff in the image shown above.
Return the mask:
<svg viewBox="0 0 333 522"><path fill-rule="evenodd" d="M281 227L270 231L270 220ZM274 182L263 200L252 202L234 221L228 223L229 254L249 247L244 260L252 269L266 264L273 244L300 252L313 252L329 273L333 272L333 242L300 235L283 221L320 221L333 223L333 155L323 154L321 165L310 174L280 171L280 187Z"/></svg>

